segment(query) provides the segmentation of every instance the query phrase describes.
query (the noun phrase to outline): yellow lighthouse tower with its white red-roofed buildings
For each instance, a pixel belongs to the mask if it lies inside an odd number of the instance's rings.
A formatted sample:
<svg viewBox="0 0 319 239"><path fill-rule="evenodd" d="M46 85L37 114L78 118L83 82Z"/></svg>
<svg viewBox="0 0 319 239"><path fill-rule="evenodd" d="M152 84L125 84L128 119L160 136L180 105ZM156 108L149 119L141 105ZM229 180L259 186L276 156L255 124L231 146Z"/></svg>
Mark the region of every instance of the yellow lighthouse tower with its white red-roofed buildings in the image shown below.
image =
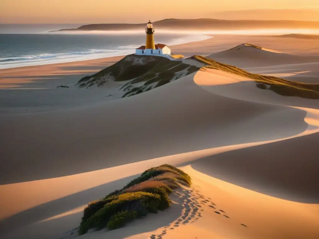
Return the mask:
<svg viewBox="0 0 319 239"><path fill-rule="evenodd" d="M171 49L165 44L155 44L153 23L149 21L145 28L146 44L135 49L136 55L157 55L170 58Z"/></svg>

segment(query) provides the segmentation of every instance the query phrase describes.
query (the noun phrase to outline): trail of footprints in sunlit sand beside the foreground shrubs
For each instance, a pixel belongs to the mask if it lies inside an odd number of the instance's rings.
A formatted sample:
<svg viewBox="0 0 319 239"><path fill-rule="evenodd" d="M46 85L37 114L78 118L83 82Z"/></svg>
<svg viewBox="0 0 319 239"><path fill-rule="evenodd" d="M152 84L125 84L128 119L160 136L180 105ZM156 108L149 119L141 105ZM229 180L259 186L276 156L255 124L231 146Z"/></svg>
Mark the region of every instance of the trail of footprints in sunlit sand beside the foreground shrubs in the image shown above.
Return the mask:
<svg viewBox="0 0 319 239"><path fill-rule="evenodd" d="M173 221L168 226L164 227L160 234L153 234L150 236L151 239L162 239L164 235L167 234L167 230L174 230L174 228L179 227L181 224L187 224L187 223L193 223L197 221L200 217L202 217L201 212L204 211L204 209L201 209L201 205L205 205L209 203L210 207L214 209L216 214L223 213L223 216L225 218L229 218L229 216L226 215L225 211L218 210L210 198L205 198L204 195L200 194L200 191L198 191L195 188L192 188L191 190L188 189L182 189L182 192L175 192L177 195L179 195L179 198L183 198L184 202L182 203L183 209L182 209L182 215L177 218L177 220ZM241 224L243 227L247 227L244 224Z"/></svg>

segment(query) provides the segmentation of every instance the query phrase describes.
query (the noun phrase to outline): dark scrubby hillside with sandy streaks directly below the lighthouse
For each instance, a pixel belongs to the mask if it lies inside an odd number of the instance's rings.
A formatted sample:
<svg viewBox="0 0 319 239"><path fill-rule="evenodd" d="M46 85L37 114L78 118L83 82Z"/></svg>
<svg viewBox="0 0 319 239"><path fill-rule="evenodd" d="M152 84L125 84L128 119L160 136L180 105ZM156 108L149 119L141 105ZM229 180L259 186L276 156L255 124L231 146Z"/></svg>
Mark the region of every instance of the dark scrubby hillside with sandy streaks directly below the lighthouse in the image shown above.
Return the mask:
<svg viewBox="0 0 319 239"><path fill-rule="evenodd" d="M136 95L172 82L197 71L199 67L160 56L127 55L114 65L78 81L81 87L102 86L107 82L123 82L122 97Z"/></svg>

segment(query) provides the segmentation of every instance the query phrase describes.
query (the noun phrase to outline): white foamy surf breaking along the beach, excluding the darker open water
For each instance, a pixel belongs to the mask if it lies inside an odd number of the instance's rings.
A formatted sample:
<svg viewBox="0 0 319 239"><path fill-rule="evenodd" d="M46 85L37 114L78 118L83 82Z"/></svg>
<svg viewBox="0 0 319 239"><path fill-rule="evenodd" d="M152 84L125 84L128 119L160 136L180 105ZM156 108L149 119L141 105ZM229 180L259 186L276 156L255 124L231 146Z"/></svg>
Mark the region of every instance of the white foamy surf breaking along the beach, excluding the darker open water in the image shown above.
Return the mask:
<svg viewBox="0 0 319 239"><path fill-rule="evenodd" d="M200 41L209 39L211 36L207 35L188 35L182 38L174 39L167 42L167 45L177 45L188 43L192 41ZM74 61L92 60L104 57L120 56L133 54L135 48L140 45L124 45L112 47L111 49L87 49L84 51L72 51L65 53L56 54L37 54L37 55L26 55L19 57L7 57L0 58L0 69L14 68L21 66L34 66L34 65L45 65L53 63L64 63Z"/></svg>

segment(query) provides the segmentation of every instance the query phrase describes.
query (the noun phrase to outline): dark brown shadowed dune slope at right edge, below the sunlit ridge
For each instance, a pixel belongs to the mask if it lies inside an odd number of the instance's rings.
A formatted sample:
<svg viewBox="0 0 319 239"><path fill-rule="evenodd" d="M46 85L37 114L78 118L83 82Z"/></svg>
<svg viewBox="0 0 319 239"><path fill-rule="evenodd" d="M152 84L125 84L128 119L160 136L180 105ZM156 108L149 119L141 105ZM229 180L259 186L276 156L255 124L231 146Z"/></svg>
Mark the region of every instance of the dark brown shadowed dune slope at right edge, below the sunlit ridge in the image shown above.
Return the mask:
<svg viewBox="0 0 319 239"><path fill-rule="evenodd" d="M319 203L319 133L199 159L204 174L269 196Z"/></svg>

